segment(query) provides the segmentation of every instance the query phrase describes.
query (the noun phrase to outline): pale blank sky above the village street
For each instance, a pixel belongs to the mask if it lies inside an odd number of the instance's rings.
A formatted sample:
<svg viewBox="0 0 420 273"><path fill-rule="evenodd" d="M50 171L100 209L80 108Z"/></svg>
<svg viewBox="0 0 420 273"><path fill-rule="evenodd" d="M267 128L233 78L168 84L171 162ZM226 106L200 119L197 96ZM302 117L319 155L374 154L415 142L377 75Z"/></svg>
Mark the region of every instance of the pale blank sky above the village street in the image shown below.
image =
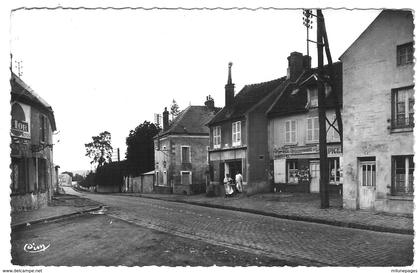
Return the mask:
<svg viewBox="0 0 420 273"><path fill-rule="evenodd" d="M333 61L378 14L324 10ZM84 144L105 130L124 158L130 130L173 99L183 109L211 95L223 106L229 62L237 93L285 76L289 54L306 52L300 9L18 10L10 20L14 66L54 110L60 171L89 170ZM315 44L310 55L314 67Z"/></svg>

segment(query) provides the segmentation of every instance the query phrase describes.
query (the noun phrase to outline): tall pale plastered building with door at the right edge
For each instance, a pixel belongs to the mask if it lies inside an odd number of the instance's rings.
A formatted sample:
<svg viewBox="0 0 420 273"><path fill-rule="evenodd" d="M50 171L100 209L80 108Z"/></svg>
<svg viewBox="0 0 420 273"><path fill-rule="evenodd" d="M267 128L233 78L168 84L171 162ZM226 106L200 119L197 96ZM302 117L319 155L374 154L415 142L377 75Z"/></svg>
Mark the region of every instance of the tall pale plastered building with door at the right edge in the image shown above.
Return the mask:
<svg viewBox="0 0 420 273"><path fill-rule="evenodd" d="M345 208L413 213L413 30L411 11L382 11L340 57Z"/></svg>

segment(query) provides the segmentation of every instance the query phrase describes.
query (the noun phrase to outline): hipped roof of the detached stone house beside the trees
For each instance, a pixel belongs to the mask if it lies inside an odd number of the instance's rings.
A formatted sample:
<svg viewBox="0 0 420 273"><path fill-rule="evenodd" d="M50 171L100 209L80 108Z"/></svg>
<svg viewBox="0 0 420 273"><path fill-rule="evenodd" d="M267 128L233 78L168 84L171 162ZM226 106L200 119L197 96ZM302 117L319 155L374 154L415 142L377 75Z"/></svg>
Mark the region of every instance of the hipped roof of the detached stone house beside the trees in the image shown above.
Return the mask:
<svg viewBox="0 0 420 273"><path fill-rule="evenodd" d="M207 106L192 105L185 108L173 120L169 129L160 132L158 136L168 134L208 135L206 123L211 120L220 108L210 109Z"/></svg>

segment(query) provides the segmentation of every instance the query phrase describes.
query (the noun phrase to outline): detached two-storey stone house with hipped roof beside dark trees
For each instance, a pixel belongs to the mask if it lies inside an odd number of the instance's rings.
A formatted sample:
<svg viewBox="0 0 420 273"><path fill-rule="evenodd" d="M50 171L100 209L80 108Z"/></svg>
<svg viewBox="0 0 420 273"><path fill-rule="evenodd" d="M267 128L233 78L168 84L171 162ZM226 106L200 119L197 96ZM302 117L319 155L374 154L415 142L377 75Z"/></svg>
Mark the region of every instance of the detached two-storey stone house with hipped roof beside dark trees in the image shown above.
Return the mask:
<svg viewBox="0 0 420 273"><path fill-rule="evenodd" d="M205 105L190 105L169 124L163 112L163 129L154 137L157 193L203 193L208 182L209 128L206 123L220 108L210 96Z"/></svg>

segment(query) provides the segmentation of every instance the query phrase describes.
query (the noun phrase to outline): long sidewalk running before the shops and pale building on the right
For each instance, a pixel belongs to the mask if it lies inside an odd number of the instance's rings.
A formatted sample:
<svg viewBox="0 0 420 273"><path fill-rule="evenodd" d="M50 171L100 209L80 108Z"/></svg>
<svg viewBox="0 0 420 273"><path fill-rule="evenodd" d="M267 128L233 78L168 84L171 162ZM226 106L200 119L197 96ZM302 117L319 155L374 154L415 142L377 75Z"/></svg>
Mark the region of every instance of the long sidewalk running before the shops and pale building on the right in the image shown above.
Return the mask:
<svg viewBox="0 0 420 273"><path fill-rule="evenodd" d="M308 193L265 193L249 197L237 196L231 198L206 197L205 194L188 196L121 193L120 195L162 199L350 228L414 234L412 215L343 209L342 197L339 195L330 196L329 209L319 208L319 194Z"/></svg>

